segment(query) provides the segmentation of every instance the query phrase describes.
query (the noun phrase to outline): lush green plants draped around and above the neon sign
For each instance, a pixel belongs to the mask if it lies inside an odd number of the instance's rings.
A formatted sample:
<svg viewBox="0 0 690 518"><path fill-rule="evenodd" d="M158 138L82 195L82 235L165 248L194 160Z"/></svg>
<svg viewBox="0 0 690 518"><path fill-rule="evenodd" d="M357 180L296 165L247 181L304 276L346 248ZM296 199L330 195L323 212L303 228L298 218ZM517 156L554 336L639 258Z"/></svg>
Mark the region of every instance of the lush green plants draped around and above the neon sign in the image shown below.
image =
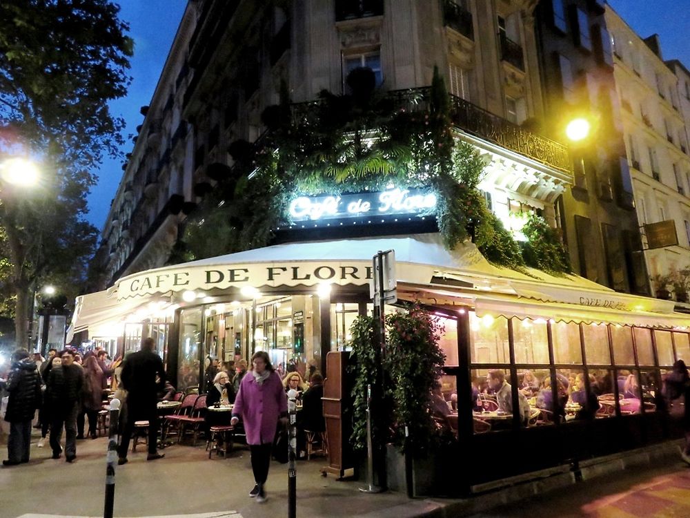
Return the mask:
<svg viewBox="0 0 690 518"><path fill-rule="evenodd" d="M268 131L260 141L230 145L233 174L201 200L175 258L266 246L297 193L382 191L392 183L436 191L437 224L448 249L471 239L495 265L524 267L523 253L535 249L521 250L486 207L477 189L484 160L471 144L453 137L450 97L437 68L426 93L382 95L366 68L353 70L347 83L348 95L324 90L319 101L297 105L290 105L282 85L280 104L262 115ZM554 236L552 253L538 258L549 271L569 271Z"/></svg>

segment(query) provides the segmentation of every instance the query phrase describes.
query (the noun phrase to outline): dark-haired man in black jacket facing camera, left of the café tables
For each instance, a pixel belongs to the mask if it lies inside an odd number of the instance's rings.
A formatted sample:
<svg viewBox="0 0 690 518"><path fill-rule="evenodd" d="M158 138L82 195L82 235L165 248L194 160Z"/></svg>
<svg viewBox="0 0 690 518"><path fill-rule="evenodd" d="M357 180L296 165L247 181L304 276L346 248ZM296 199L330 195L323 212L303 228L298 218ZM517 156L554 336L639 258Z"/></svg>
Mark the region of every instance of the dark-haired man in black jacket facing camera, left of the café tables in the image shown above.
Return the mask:
<svg viewBox="0 0 690 518"><path fill-rule="evenodd" d="M75 353L66 349L60 355L62 364L53 366L48 375L46 394L50 404L50 448L52 458L62 454L62 429L65 428L65 459L72 463L77 458L77 413L81 408L84 374L75 363Z"/></svg>

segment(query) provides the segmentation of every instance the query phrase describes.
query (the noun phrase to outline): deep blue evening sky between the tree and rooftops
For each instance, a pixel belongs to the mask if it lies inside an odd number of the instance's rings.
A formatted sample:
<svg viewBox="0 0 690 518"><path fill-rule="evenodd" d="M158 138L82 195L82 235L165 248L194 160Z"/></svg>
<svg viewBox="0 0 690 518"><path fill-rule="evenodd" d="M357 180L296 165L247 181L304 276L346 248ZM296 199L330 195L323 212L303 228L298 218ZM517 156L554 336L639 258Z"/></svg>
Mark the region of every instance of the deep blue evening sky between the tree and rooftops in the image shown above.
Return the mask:
<svg viewBox="0 0 690 518"><path fill-rule="evenodd" d="M124 135L133 135L144 117L139 107L149 104L175 31L184 13L187 0L118 0L121 19L130 24L130 37L135 40L129 93L110 104L112 112L127 122ZM638 33L647 37L660 35L664 59L680 59L690 68L690 0L609 0L613 9ZM123 153L132 151L128 138ZM87 219L102 229L122 176L121 161L106 160L97 172L99 182L88 196L90 213Z"/></svg>

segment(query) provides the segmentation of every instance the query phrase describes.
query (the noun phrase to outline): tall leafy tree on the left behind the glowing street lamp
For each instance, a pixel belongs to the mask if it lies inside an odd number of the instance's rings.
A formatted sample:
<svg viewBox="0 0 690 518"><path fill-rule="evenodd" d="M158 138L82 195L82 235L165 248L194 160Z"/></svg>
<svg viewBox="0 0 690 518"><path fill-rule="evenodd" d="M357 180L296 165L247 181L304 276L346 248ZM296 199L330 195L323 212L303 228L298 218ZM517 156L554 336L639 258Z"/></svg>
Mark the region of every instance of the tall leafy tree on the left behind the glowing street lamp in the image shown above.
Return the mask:
<svg viewBox="0 0 690 518"><path fill-rule="evenodd" d="M95 247L97 229L83 220L90 171L103 153L118 154L124 122L107 102L131 80L132 40L118 13L108 0L0 3L0 158L41 163L39 189L0 186L0 292L15 299L18 345L37 283L74 291Z"/></svg>

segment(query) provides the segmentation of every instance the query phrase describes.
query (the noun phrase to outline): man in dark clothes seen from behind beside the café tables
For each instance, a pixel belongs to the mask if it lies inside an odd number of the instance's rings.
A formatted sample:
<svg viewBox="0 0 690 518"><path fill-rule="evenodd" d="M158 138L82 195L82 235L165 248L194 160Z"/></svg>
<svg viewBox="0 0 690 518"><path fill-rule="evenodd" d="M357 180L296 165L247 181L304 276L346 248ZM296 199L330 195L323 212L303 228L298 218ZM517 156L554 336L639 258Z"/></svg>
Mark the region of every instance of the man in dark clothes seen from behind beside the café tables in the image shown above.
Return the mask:
<svg viewBox="0 0 690 518"><path fill-rule="evenodd" d="M155 461L165 457L156 449L158 436L158 391L164 387L166 373L161 357L153 352L155 341L144 338L141 351L130 354L124 362L121 374L121 387L127 391L127 421L120 444L117 448L117 463L127 462L127 450L132 439L134 423L148 421L148 457Z"/></svg>

